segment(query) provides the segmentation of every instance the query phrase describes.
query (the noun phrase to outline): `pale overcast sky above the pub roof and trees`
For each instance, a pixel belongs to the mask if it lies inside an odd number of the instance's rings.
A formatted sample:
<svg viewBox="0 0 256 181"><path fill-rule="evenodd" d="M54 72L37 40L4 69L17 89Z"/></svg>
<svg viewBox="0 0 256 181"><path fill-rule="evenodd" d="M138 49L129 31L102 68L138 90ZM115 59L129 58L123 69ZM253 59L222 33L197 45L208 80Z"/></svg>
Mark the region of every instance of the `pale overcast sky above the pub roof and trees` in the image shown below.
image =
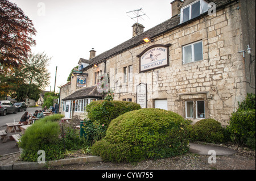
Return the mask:
<svg viewBox="0 0 256 181"><path fill-rule="evenodd" d="M144 31L171 18L172 0L9 0L16 3L36 28L36 46L32 53L46 53L51 58L51 91L67 83L67 78L80 58L89 59L132 37L137 18L133 12L142 9L139 19ZM143 13L140 12L140 15ZM129 17L129 16L131 17ZM45 90L50 91L50 86Z"/></svg>

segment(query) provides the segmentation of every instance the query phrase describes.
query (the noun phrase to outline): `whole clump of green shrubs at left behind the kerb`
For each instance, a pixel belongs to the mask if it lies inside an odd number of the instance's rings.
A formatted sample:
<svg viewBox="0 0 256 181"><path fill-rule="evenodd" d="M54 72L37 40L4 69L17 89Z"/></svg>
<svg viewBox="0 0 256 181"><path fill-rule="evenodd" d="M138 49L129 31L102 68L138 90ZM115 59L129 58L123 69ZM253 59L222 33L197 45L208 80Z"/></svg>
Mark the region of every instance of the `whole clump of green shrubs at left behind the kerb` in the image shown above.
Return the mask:
<svg viewBox="0 0 256 181"><path fill-rule="evenodd" d="M49 161L64 158L66 150L86 149L79 130L68 127L64 122L61 124L57 122L61 117L63 115L60 114L46 116L27 128L19 142L20 148L23 148L21 155L23 161L37 162L38 150L44 150L46 161ZM66 150L64 150L62 126Z"/></svg>

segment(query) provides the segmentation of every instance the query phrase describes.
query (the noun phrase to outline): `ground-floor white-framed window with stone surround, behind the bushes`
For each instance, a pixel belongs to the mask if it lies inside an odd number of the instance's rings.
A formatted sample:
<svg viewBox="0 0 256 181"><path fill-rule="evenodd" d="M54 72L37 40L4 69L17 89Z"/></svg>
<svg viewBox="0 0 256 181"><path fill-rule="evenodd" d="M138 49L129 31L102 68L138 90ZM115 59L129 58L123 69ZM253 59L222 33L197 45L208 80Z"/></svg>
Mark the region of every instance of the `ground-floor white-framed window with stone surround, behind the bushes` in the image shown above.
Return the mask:
<svg viewBox="0 0 256 181"><path fill-rule="evenodd" d="M196 112L195 114L196 116L194 116L194 112ZM187 100L185 102L185 117L189 119L204 119L205 118L204 100Z"/></svg>

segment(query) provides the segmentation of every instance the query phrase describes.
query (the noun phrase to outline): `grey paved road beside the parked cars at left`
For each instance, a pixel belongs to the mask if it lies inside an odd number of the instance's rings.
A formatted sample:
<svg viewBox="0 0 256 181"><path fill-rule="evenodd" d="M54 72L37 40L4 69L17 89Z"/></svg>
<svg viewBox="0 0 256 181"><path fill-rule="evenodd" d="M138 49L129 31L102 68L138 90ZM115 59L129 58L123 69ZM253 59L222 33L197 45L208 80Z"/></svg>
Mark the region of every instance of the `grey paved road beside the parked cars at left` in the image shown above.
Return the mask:
<svg viewBox="0 0 256 181"><path fill-rule="evenodd" d="M42 107L28 107L28 113L34 113L35 110L42 110ZM25 111L21 111L18 113L8 113L6 116L0 116L0 130L5 129L6 123L13 123L14 119L15 122L20 120L20 117L25 113Z"/></svg>

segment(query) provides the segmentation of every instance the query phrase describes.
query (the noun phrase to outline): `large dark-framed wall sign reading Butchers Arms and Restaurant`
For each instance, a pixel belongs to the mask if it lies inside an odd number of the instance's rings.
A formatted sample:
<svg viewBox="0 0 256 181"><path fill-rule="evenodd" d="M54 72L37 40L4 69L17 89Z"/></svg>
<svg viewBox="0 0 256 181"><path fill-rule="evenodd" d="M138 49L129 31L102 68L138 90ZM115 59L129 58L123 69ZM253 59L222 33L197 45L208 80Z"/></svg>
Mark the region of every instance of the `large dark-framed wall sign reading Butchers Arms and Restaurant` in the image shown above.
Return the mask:
<svg viewBox="0 0 256 181"><path fill-rule="evenodd" d="M139 57L139 72L159 69L169 66L169 47L167 45L152 45L145 49Z"/></svg>

